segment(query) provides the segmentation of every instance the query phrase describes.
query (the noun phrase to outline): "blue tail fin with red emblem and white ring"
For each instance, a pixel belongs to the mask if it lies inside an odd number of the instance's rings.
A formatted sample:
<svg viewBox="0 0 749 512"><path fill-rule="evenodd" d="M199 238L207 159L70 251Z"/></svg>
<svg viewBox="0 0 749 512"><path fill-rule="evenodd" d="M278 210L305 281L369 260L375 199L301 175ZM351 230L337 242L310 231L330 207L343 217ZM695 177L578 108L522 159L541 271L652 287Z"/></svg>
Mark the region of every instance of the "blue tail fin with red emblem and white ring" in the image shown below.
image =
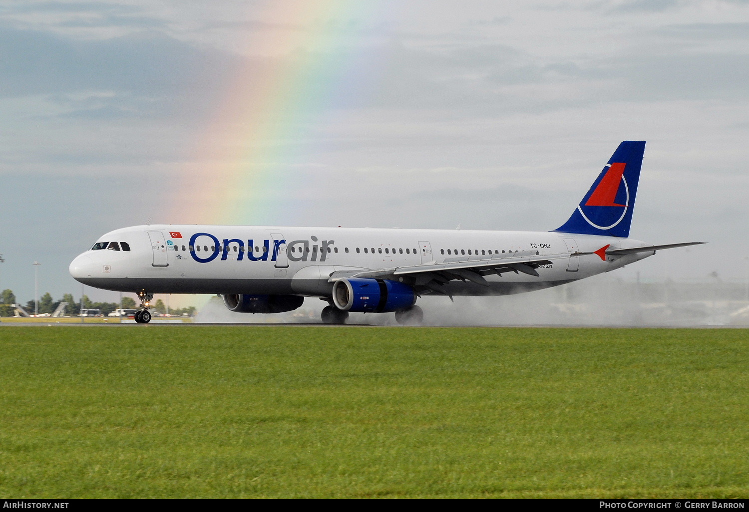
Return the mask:
<svg viewBox="0 0 749 512"><path fill-rule="evenodd" d="M554 231L628 237L644 152L644 141L619 144L572 216Z"/></svg>

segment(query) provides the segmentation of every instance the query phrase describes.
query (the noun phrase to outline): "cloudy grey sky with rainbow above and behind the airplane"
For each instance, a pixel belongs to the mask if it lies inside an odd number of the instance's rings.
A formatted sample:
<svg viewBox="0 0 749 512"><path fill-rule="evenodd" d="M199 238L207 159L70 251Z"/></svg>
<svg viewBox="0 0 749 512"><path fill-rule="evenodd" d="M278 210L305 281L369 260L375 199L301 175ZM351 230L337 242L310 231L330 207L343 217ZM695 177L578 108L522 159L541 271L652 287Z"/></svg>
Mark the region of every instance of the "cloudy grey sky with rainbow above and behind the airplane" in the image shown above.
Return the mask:
<svg viewBox="0 0 749 512"><path fill-rule="evenodd" d="M748 53L747 1L0 1L0 287L149 219L554 229L626 139L631 235L710 245L622 277L744 278Z"/></svg>

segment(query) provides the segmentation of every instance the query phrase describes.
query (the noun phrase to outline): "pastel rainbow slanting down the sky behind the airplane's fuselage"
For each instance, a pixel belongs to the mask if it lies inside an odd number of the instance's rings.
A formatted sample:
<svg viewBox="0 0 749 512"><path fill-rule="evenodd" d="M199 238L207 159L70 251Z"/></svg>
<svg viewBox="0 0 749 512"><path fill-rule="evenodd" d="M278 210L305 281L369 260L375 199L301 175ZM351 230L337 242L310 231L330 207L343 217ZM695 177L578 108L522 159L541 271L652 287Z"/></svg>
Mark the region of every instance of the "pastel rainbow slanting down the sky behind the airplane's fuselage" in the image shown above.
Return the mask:
<svg viewBox="0 0 749 512"><path fill-rule="evenodd" d="M372 65L367 55L340 49L351 34L329 20L366 17L364 4L370 2L267 2L261 19L312 20L312 28L249 31L247 48L276 55L247 58L225 79L219 107L184 165L169 222L261 225L277 222L274 207L294 209L283 191L291 180L300 185L294 169L304 162L315 122L345 100L347 82L361 76L357 68Z"/></svg>

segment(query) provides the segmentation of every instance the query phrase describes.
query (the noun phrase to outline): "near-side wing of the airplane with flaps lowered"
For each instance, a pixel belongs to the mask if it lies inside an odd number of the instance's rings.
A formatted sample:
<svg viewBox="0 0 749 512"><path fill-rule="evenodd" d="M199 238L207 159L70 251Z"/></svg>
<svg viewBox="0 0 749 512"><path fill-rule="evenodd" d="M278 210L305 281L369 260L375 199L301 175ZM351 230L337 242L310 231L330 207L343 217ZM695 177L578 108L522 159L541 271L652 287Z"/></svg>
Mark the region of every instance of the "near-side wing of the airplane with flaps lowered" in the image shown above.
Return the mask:
<svg viewBox="0 0 749 512"><path fill-rule="evenodd" d="M532 254L530 254L532 253ZM522 254L522 255L521 255ZM484 278L488 274L502 275L505 272L522 272L528 275L538 276L536 271L539 266L549 265L553 260L567 259L570 255L544 255L539 256L539 252L526 251L524 253L509 253L507 255L493 255L481 260L451 261L437 263L423 263L413 266L397 266L389 269L374 270L343 270L333 272L328 281L338 281L342 278L383 278L398 279L416 287L419 290L431 290L435 293L448 295L442 287L453 279L461 281L471 281L481 286L488 287L489 284ZM451 297L452 298L452 297Z"/></svg>

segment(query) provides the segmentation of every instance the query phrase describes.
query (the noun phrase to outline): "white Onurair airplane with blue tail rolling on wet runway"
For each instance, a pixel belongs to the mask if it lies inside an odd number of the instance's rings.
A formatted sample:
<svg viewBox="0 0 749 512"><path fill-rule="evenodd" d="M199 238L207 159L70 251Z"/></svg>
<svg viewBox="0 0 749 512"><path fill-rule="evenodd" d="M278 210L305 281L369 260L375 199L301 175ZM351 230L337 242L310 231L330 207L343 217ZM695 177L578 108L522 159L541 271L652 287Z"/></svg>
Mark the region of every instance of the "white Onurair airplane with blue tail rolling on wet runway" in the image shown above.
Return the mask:
<svg viewBox="0 0 749 512"><path fill-rule="evenodd" d="M610 272L661 249L629 238L644 141L623 141L567 222L552 231L140 225L110 231L70 263L103 290L137 293L137 323L154 293L211 293L231 311L282 313L306 297L323 323L395 313L419 325L422 296L498 296Z"/></svg>

